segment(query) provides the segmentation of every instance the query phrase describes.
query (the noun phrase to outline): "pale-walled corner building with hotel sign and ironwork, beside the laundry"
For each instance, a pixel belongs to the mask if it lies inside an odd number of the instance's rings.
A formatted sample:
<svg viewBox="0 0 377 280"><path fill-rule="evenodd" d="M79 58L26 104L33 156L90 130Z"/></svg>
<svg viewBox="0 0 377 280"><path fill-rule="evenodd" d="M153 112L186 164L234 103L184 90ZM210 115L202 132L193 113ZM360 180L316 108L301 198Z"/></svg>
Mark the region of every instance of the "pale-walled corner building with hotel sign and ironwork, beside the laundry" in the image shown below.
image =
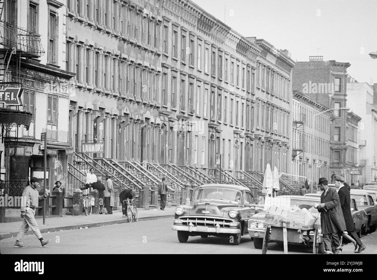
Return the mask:
<svg viewBox="0 0 377 280"><path fill-rule="evenodd" d="M20 111L31 113L30 125L14 124L0 144L1 178L6 186L14 184L13 195L21 195L30 177L43 178L45 164L48 185L66 182L67 157L73 152L68 141L68 89L75 74L64 67L64 1L5 0L0 5L2 87L22 88ZM43 132L46 163L40 147Z"/></svg>

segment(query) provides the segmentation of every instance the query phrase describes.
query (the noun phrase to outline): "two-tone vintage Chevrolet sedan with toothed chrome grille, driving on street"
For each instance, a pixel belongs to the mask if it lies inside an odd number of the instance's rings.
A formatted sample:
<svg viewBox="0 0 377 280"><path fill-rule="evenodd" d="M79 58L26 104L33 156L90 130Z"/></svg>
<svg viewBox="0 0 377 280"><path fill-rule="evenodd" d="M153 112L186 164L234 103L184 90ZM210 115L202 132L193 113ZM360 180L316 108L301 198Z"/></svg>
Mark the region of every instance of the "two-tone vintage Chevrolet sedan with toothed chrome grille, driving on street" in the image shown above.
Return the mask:
<svg viewBox="0 0 377 280"><path fill-rule="evenodd" d="M255 214L256 203L250 189L238 185L202 185L195 190L190 205L175 209L172 226L179 242L189 236L229 238L238 245L247 234L247 220Z"/></svg>

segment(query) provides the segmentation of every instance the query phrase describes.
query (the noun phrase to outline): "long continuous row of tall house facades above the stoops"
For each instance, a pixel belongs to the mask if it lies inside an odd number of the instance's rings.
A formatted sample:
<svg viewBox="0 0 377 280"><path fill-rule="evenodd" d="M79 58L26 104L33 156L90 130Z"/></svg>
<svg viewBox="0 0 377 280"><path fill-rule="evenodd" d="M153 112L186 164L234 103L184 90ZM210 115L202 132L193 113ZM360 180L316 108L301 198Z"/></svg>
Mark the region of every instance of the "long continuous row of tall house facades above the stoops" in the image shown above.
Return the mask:
<svg viewBox="0 0 377 280"><path fill-rule="evenodd" d="M104 157L210 174L290 171L288 51L236 31L191 1L67 1L70 144Z"/></svg>

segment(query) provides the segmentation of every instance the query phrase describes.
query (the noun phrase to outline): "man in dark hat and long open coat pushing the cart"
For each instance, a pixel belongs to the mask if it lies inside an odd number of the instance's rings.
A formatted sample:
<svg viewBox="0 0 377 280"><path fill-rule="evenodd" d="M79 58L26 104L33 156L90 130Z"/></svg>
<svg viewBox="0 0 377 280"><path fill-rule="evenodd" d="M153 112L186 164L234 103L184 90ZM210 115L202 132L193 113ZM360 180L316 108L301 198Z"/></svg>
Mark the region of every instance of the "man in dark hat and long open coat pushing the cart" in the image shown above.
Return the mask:
<svg viewBox="0 0 377 280"><path fill-rule="evenodd" d="M323 191L321 204L317 206L317 209L321 213L321 230L326 254L339 254L341 248L339 236L346 230L339 195L334 188L327 185L326 178L320 178L318 185Z"/></svg>

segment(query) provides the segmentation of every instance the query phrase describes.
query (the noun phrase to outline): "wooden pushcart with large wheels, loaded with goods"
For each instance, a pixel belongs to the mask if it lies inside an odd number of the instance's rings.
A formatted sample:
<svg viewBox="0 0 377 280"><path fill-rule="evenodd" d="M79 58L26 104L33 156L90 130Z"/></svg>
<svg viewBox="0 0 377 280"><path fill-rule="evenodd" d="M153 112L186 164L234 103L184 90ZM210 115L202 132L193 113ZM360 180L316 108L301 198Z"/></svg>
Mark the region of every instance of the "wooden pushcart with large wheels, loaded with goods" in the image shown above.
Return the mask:
<svg viewBox="0 0 377 280"><path fill-rule="evenodd" d="M313 254L324 252L322 235L319 234L320 225L315 223L304 225L299 220L292 220L281 215L266 214L266 233L263 239L262 254L267 253L270 242L283 242L284 254L288 254L288 243L304 244L313 248ZM312 233L314 232L314 234ZM305 240L304 237L308 240Z"/></svg>

